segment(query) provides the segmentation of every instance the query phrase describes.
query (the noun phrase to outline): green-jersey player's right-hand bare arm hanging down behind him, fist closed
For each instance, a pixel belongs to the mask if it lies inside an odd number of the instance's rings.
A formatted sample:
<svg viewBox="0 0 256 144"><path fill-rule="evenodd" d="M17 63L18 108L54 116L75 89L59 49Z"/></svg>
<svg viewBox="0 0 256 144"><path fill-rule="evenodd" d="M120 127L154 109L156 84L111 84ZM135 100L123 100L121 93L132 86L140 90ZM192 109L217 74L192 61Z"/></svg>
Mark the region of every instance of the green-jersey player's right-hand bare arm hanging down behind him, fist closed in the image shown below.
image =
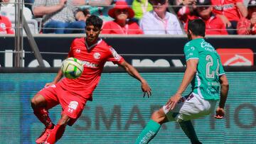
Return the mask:
<svg viewBox="0 0 256 144"><path fill-rule="evenodd" d="M218 108L216 109L216 115L215 118L221 119L225 115L224 107L225 107L225 101L228 97L228 79L225 74L220 76L220 103Z"/></svg>

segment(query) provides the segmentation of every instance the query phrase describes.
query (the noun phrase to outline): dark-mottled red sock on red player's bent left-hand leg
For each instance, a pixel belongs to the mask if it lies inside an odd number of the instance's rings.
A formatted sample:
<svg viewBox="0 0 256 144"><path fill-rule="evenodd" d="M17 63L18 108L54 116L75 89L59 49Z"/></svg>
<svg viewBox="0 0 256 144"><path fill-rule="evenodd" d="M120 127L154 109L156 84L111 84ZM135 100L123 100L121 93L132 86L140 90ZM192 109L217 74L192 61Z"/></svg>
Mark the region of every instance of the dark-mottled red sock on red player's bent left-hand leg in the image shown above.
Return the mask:
<svg viewBox="0 0 256 144"><path fill-rule="evenodd" d="M39 119L39 121L41 121L41 123L43 123L46 126L46 128L53 127L53 123L50 120L48 111L45 108L43 108L43 107L36 108L36 109L33 109L33 111L34 111L34 114L36 115L36 117Z"/></svg>

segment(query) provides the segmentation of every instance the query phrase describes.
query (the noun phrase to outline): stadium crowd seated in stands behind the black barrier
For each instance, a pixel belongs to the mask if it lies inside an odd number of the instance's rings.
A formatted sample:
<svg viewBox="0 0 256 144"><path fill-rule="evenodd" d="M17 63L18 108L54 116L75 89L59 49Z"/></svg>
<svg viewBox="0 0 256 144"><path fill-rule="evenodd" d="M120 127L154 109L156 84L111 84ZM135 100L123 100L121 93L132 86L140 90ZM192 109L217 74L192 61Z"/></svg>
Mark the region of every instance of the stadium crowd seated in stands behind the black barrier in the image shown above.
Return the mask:
<svg viewBox="0 0 256 144"><path fill-rule="evenodd" d="M14 9L5 8L15 1L0 2L0 33L13 34ZM25 0L24 9L36 33L85 33L90 15L102 18L103 34L183 35L196 18L205 21L207 35L256 33L256 0Z"/></svg>

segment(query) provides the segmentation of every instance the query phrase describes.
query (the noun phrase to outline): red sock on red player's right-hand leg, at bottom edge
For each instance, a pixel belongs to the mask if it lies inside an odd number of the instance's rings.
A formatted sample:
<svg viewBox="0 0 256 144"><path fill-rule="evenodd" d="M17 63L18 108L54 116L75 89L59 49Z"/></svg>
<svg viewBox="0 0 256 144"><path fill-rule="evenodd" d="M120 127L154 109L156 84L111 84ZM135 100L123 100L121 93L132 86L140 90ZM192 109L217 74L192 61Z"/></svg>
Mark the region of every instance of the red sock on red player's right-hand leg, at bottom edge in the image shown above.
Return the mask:
<svg viewBox="0 0 256 144"><path fill-rule="evenodd" d="M48 144L54 144L57 142L63 135L65 131L64 125L56 125L55 128L50 132L50 135L46 139L46 143Z"/></svg>

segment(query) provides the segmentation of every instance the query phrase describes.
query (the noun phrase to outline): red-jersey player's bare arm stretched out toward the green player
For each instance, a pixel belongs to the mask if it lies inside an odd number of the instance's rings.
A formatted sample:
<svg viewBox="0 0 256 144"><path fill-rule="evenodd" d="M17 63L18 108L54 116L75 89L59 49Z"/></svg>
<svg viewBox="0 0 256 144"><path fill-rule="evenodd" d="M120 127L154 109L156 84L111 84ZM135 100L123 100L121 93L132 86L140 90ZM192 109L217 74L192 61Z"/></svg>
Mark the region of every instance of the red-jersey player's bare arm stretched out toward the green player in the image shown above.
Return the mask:
<svg viewBox="0 0 256 144"><path fill-rule="evenodd" d="M124 60L120 66L124 67L124 70L126 70L132 77L142 82L142 92L144 92L144 96L145 94L151 96L151 88L149 87L149 84L132 65L129 65L129 63Z"/></svg>

